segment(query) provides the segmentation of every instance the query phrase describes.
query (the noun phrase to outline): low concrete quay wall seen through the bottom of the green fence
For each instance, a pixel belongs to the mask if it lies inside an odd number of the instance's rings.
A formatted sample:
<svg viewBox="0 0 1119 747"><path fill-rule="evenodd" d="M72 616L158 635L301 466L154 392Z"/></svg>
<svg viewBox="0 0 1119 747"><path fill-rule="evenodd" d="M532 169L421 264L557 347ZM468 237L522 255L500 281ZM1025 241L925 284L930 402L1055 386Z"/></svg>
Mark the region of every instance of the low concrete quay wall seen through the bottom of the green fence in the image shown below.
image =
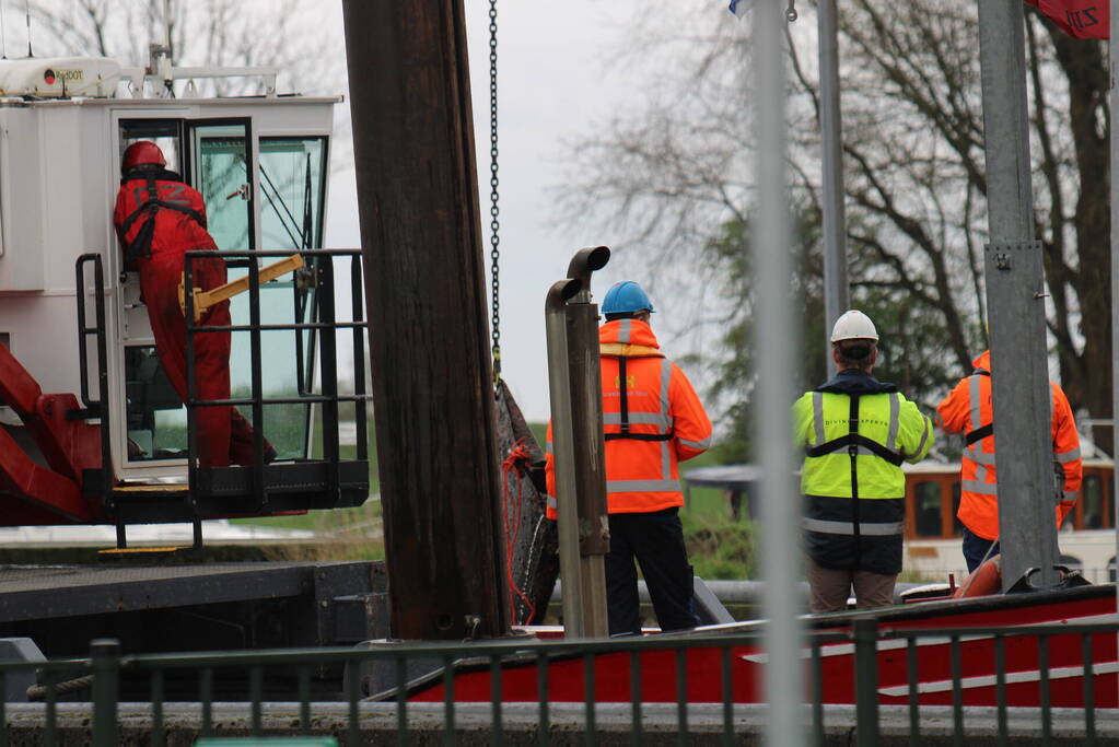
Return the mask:
<svg viewBox="0 0 1119 747"><path fill-rule="evenodd" d="M291 737L301 734L298 703L264 703L261 715L262 737ZM735 706L733 724L735 744L762 745L767 709L764 706ZM349 718L346 703L312 703L310 734L335 736L340 745L348 744ZM536 745L539 741L539 710L536 705L507 703L501 709L501 732L506 745ZM10 745L40 745L46 736L46 707L41 703L10 703L6 707ZM1015 747L1043 744L1040 709L1008 709L1008 736ZM1119 710L1094 711L1097 744L1119 744ZM407 708L407 744L442 745L445 713L441 705L410 705ZM828 706L825 709L826 745L855 744L855 710L852 706ZM805 724L811 721L805 711ZM359 703L360 744L396 744L397 712L394 703ZM552 745L586 744L587 719L581 705L556 703L551 707L548 737ZM910 721L906 707L880 709L880 745L909 745ZM247 703L215 703L211 735L248 737L253 735L252 709ZM201 707L197 703L166 703L163 725L168 747L194 745L201 734ZM688 744L722 745L723 707L689 706L687 709ZM632 744L632 709L628 703L600 705L594 712L598 744L604 747ZM968 708L963 715L965 744L997 744L997 713L994 708ZM464 747L491 744L492 711L489 703L459 705L454 711L455 744ZM642 707L642 744L657 747L679 744L678 710L674 703L649 703ZM953 744L951 708L923 707L920 711L922 745ZM150 745L152 709L148 703L121 703L116 744ZM88 745L92 737L92 710L88 703L58 703L56 707L56 744ZM1052 741L1054 745L1085 743L1084 712L1080 709L1053 709Z"/></svg>

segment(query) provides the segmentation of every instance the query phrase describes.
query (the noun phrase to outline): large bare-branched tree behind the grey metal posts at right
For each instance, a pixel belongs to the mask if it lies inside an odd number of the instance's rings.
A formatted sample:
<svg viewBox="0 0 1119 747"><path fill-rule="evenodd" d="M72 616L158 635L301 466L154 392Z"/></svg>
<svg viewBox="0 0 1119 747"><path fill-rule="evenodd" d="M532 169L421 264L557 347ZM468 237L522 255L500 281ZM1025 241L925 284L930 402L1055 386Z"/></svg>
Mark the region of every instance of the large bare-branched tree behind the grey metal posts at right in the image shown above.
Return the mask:
<svg viewBox="0 0 1119 747"><path fill-rule="evenodd" d="M731 342L742 337L737 327L749 323L749 272L733 287L721 284L740 276L727 273L740 253L713 247L728 225L749 226L752 190L767 188L743 179L750 144L736 72L744 68L749 40L733 21L712 20L698 2L685 4L681 13L692 20L674 19L666 27L673 30L659 36L646 27L641 38L648 41L632 45L646 60L664 53L669 66L650 75L655 87L643 111L575 144L564 206L568 215L593 215L624 230L629 250L657 257L662 271L698 267L697 284L723 302L708 304L720 311L706 321L727 330ZM1065 37L1034 11L1027 20L1035 219L1052 296L1050 329L1070 399L1104 415L1111 368L1107 67L1099 42ZM850 0L840 3L839 25L854 297L873 305L891 337L901 338L893 361L915 363L891 372L903 386L911 377L918 394L931 397L970 370L986 344L987 182L976 4ZM819 250L812 221L820 191L810 30L790 28L790 199L807 255ZM802 259L802 272L818 272L819 264ZM818 292L808 281L797 290ZM806 334L809 342L821 338ZM730 351L714 360L724 393L743 391L742 379L726 376L750 376L741 360L727 366L734 360Z"/></svg>

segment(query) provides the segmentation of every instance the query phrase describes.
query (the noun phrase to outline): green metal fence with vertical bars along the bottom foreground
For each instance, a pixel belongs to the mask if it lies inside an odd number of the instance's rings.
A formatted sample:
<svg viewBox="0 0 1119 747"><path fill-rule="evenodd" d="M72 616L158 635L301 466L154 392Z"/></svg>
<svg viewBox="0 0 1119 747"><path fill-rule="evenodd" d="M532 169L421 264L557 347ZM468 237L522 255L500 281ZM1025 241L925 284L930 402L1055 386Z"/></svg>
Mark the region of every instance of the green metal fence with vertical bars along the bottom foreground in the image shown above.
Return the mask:
<svg viewBox="0 0 1119 747"><path fill-rule="evenodd" d="M1012 738L1008 728L1007 707L1007 666L1006 666L1006 643L1015 641L1015 645L1021 645L1023 640L1032 641L1036 646L1034 653L1040 673L1041 692L1041 744L1053 744L1053 713L1050 707L1050 650L1054 639L1061 637L1068 641L1079 639L1080 641L1080 665L1083 668L1083 730L1082 744L1101 744L1101 735L1097 728L1097 698L1093 681L1093 641L1092 636L1099 634L1119 634L1119 623L1109 622L1106 624L1091 625L1036 625L1007 630L1005 627L955 627L955 628L927 628L927 630L904 630L878 628L873 620L856 621L849 631L824 632L811 634L806 644L806 664L808 668L809 698L808 712L811 713L808 730L815 737L817 744L825 740L825 729L827 727L827 709L825 708L822 690L822 658L827 652L827 646L835 643L845 643L854 650L854 692L855 692L855 718L856 739L858 745L878 744L880 734L880 708L878 708L878 671L881 666L880 653L884 646L890 646L895 651L904 653L905 672L908 677L908 715L909 715L909 743L912 745L922 744L922 720L919 711L920 671L918 666L918 646L922 640L940 639L948 643L951 666L951 721L952 741L955 744L967 744L965 730L965 705L963 705L963 680L962 675L962 646L961 641L975 640L977 636L989 636L994 641L995 654L995 691L996 691L996 713L997 713L997 744L1009 744ZM394 643L388 646L360 647L360 649L313 649L313 650L275 650L255 652L215 652L194 653L177 655L122 655L115 641L98 640L91 644L88 659L69 659L36 663L0 663L0 687L4 685L6 678L15 673L26 673L35 671L43 683L37 689L37 696L41 698L43 730L41 744L55 745L59 743L58 706L59 697L73 698L76 688L87 688L90 693L84 702L87 703L92 725L90 727L90 739L96 747L110 747L120 744L120 694L122 678L137 678L141 682L147 682L149 697L145 701L145 713L150 718L150 739L148 744L161 746L168 743L168 725L164 719L167 701L168 678L176 678L176 682L181 683L185 679L197 682L197 705L199 709L200 726L198 728L201 737L216 737L218 729L215 726L215 703L222 698L235 699L243 703L243 708L248 711L248 731L255 736L265 735L263 710L265 702L265 677L272 668L284 668L285 671L298 672L295 684L290 691L284 702L291 708L298 709L298 715L288 724L292 734L310 736L314 732L312 722L312 679L316 672L322 668L338 668L348 665L351 672L357 672L363 663L387 662L389 671L395 671L395 688L391 689L383 701L387 701L388 708L395 705L395 738L397 744L410 744L410 708L407 672L408 663L415 660L441 662L443 672L441 681L445 689L445 698L441 709L441 732L444 744L453 745L457 740L457 708L454 694L454 672L455 662L469 659L472 662L488 662L491 672L492 684L489 702L489 730L490 744L500 745L506 739L505 734L505 711L508 703L502 702L501 680L496 677L501 671L502 662L513 659L519 661L535 662L537 694L536 702L529 705L535 708L534 718L537 725L535 739L537 744L547 745L552 735L552 716L555 703L551 699L553 684L548 679L549 662L560 659L582 659L585 698L583 701L584 735L586 744L594 744L596 739L596 711L594 707L594 683L596 656L608 653L629 653L630 661L630 724L629 734L632 744L642 741L642 720L649 710L649 703L642 700L642 679L640 677L640 655L642 652L653 650L675 652L675 674L676 674L676 722L675 731L679 738L679 744L688 744L689 736L689 707L686 702L688 688L688 670L685 666L687 653L689 651L706 649L717 651L720 654L721 668L717 677L721 678L722 702L712 703L721 710L722 728L721 739L723 744L736 744L741 739L741 724L736 729L736 701L733 692L732 678L732 649L739 646L759 646L760 634L756 630L751 633L726 633L726 634L698 634L698 635L671 635L671 636L646 636L637 639L613 639L600 641L538 641L535 639L513 639L492 642L474 643L416 643L403 644ZM1113 666L1113 664L1111 664ZM222 692L216 691L215 674L231 669L243 670L246 675L245 690L237 693L229 693L225 685ZM77 674L77 677L74 677ZM218 698L217 696L220 696ZM350 675L346 678L344 706L344 720L346 721L345 734L339 735L347 745L363 744L361 734L361 709L363 696L359 687L359 678ZM272 701L276 702L276 701ZM320 703L316 703L318 708ZM1104 705L1113 708L1115 705ZM721 708L720 708L721 707ZM13 707L10 703L0 705L0 745L12 744L11 728L9 726L9 711ZM430 708L430 707L429 707ZM520 708L525 708L521 705ZM923 708L923 707L922 707ZM430 710L427 712L431 712ZM436 713L439 707L436 706ZM392 729L389 729L392 734ZM384 734L382 735L384 737ZM1111 738L1113 735L1109 735Z"/></svg>

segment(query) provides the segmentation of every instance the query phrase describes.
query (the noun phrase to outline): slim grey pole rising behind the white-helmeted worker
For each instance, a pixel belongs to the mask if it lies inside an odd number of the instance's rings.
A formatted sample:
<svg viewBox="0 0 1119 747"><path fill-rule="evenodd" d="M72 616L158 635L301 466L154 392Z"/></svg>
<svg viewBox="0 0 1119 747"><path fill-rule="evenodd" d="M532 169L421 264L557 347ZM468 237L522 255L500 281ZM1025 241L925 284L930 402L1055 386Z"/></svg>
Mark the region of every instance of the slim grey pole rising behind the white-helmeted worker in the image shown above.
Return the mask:
<svg viewBox="0 0 1119 747"><path fill-rule="evenodd" d="M839 108L839 39L836 0L817 6L820 45L820 144L824 151L824 360L831 359L831 323L850 306L847 285L847 227L844 217L843 115Z"/></svg>

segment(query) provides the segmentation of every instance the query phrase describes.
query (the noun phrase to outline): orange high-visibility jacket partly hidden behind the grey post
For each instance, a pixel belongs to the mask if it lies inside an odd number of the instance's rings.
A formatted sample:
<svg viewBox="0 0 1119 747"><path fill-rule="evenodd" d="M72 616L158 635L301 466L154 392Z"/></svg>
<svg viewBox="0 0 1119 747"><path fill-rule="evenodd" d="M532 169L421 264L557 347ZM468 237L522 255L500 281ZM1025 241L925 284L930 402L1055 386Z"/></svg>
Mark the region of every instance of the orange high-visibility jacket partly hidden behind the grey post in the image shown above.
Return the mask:
<svg viewBox="0 0 1119 747"><path fill-rule="evenodd" d="M965 448L960 469L960 509L957 516L963 526L984 539L998 538L998 479L995 475L995 419L990 401L990 351L972 361L975 372L965 378L937 408L937 420L947 433L963 435ZM1080 458L1080 436L1072 417L1072 407L1064 391L1050 382L1053 404L1051 436L1053 458L1064 472L1062 501L1056 507L1056 526L1076 502L1076 491L1083 464Z"/></svg>

